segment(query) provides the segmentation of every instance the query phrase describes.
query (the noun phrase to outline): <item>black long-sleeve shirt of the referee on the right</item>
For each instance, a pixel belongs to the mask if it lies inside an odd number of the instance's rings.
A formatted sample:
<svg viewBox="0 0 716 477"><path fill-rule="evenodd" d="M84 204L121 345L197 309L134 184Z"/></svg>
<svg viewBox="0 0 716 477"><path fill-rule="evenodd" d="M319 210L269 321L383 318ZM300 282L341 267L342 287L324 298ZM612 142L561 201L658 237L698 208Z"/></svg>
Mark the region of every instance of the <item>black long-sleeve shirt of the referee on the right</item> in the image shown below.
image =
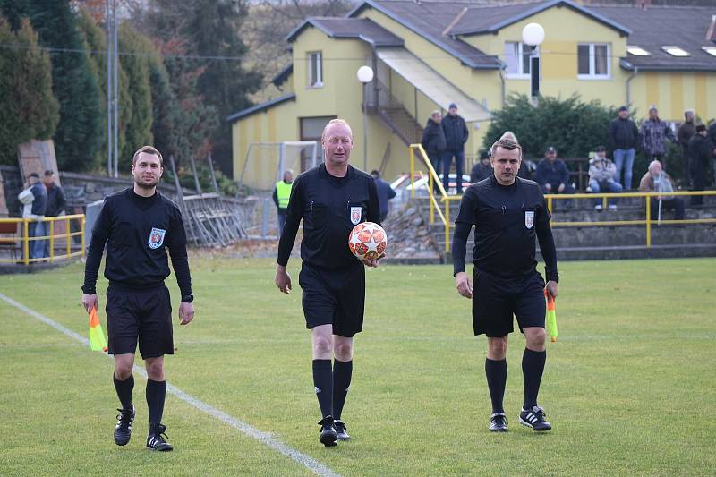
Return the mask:
<svg viewBox="0 0 716 477"><path fill-rule="evenodd" d="M547 280L557 280L557 251L550 211L540 186L520 177L500 185L494 175L473 183L463 194L453 236L455 274L465 271L467 237L475 226L473 263L498 277L524 277L534 272L535 235L545 261Z"/></svg>

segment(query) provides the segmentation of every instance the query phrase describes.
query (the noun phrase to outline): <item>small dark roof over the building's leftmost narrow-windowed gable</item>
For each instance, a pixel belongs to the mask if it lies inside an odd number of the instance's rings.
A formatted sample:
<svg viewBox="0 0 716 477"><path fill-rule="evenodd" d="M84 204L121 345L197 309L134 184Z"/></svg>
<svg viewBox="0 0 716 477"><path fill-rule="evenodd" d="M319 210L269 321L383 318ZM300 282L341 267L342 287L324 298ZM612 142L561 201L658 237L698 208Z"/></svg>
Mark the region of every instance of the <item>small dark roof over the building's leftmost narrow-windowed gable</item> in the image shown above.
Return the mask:
<svg viewBox="0 0 716 477"><path fill-rule="evenodd" d="M303 21L286 40L293 42L307 27L316 27L330 38L357 38L375 47L402 47L403 39L396 37L378 23L367 18L311 17Z"/></svg>

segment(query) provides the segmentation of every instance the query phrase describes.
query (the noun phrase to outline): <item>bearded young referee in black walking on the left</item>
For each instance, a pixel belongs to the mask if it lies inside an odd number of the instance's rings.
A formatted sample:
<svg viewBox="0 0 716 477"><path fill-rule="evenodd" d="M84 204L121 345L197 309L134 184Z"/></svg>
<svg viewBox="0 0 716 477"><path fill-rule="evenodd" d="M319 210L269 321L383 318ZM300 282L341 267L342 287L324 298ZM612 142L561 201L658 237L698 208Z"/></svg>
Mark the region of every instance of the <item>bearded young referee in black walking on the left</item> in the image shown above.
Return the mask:
<svg viewBox="0 0 716 477"><path fill-rule="evenodd" d="M115 389L118 409L115 443L124 446L132 436L134 405L132 366L137 341L147 367L149 434L147 447L172 450L161 423L166 396L164 355L174 353L172 305L164 279L169 276L165 248L172 256L176 281L182 292L180 324L194 318L194 298L182 214L174 202L157 191L164 172L157 149L144 146L134 153L134 186L110 195L92 229L87 252L82 305L89 312L98 305L97 274L107 243L108 352L115 356Z"/></svg>

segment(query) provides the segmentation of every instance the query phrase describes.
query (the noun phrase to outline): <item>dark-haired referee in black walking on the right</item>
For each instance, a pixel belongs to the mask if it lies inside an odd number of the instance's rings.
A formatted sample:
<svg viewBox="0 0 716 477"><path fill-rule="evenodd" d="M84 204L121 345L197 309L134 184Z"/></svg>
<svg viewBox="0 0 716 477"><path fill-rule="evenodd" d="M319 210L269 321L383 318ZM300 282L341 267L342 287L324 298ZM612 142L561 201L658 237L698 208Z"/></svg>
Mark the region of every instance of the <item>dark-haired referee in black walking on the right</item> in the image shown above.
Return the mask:
<svg viewBox="0 0 716 477"><path fill-rule="evenodd" d="M537 405L546 358L544 280L535 266L535 235L546 263L547 293L557 297L557 253L540 186L517 177L522 148L506 132L491 148L494 175L473 183L463 195L455 221L453 260L459 294L473 299L475 335L487 335L485 374L490 388L490 430L507 431L502 407L507 381L507 335L513 314L524 333L522 358L524 405L519 422L533 430L550 430L544 410ZM465 245L475 226L473 285L465 274Z"/></svg>

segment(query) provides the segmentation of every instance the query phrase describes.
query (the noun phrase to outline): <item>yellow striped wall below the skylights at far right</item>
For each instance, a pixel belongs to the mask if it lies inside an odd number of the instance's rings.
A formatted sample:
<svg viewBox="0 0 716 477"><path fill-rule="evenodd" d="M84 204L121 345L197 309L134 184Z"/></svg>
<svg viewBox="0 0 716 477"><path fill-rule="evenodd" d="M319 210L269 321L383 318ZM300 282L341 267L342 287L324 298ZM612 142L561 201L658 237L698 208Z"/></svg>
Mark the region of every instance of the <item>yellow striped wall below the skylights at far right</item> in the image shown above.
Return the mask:
<svg viewBox="0 0 716 477"><path fill-rule="evenodd" d="M716 74L712 72L638 72L631 82L631 101L638 117L649 106L659 108L664 121L681 121L694 109L705 123L716 117Z"/></svg>

